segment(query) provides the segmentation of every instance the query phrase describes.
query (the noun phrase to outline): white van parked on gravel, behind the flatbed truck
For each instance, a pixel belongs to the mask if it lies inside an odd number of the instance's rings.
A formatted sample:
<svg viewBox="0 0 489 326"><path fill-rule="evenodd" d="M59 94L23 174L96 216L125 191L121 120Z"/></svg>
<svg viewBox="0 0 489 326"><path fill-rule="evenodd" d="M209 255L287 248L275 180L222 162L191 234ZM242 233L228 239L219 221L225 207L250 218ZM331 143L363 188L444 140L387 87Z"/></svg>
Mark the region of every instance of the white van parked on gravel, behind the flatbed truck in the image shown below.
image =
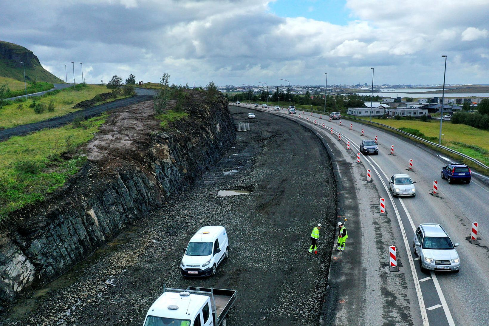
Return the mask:
<svg viewBox="0 0 489 326"><path fill-rule="evenodd" d="M221 226L202 227L190 239L180 270L183 276L214 276L219 264L228 257L226 229Z"/></svg>

